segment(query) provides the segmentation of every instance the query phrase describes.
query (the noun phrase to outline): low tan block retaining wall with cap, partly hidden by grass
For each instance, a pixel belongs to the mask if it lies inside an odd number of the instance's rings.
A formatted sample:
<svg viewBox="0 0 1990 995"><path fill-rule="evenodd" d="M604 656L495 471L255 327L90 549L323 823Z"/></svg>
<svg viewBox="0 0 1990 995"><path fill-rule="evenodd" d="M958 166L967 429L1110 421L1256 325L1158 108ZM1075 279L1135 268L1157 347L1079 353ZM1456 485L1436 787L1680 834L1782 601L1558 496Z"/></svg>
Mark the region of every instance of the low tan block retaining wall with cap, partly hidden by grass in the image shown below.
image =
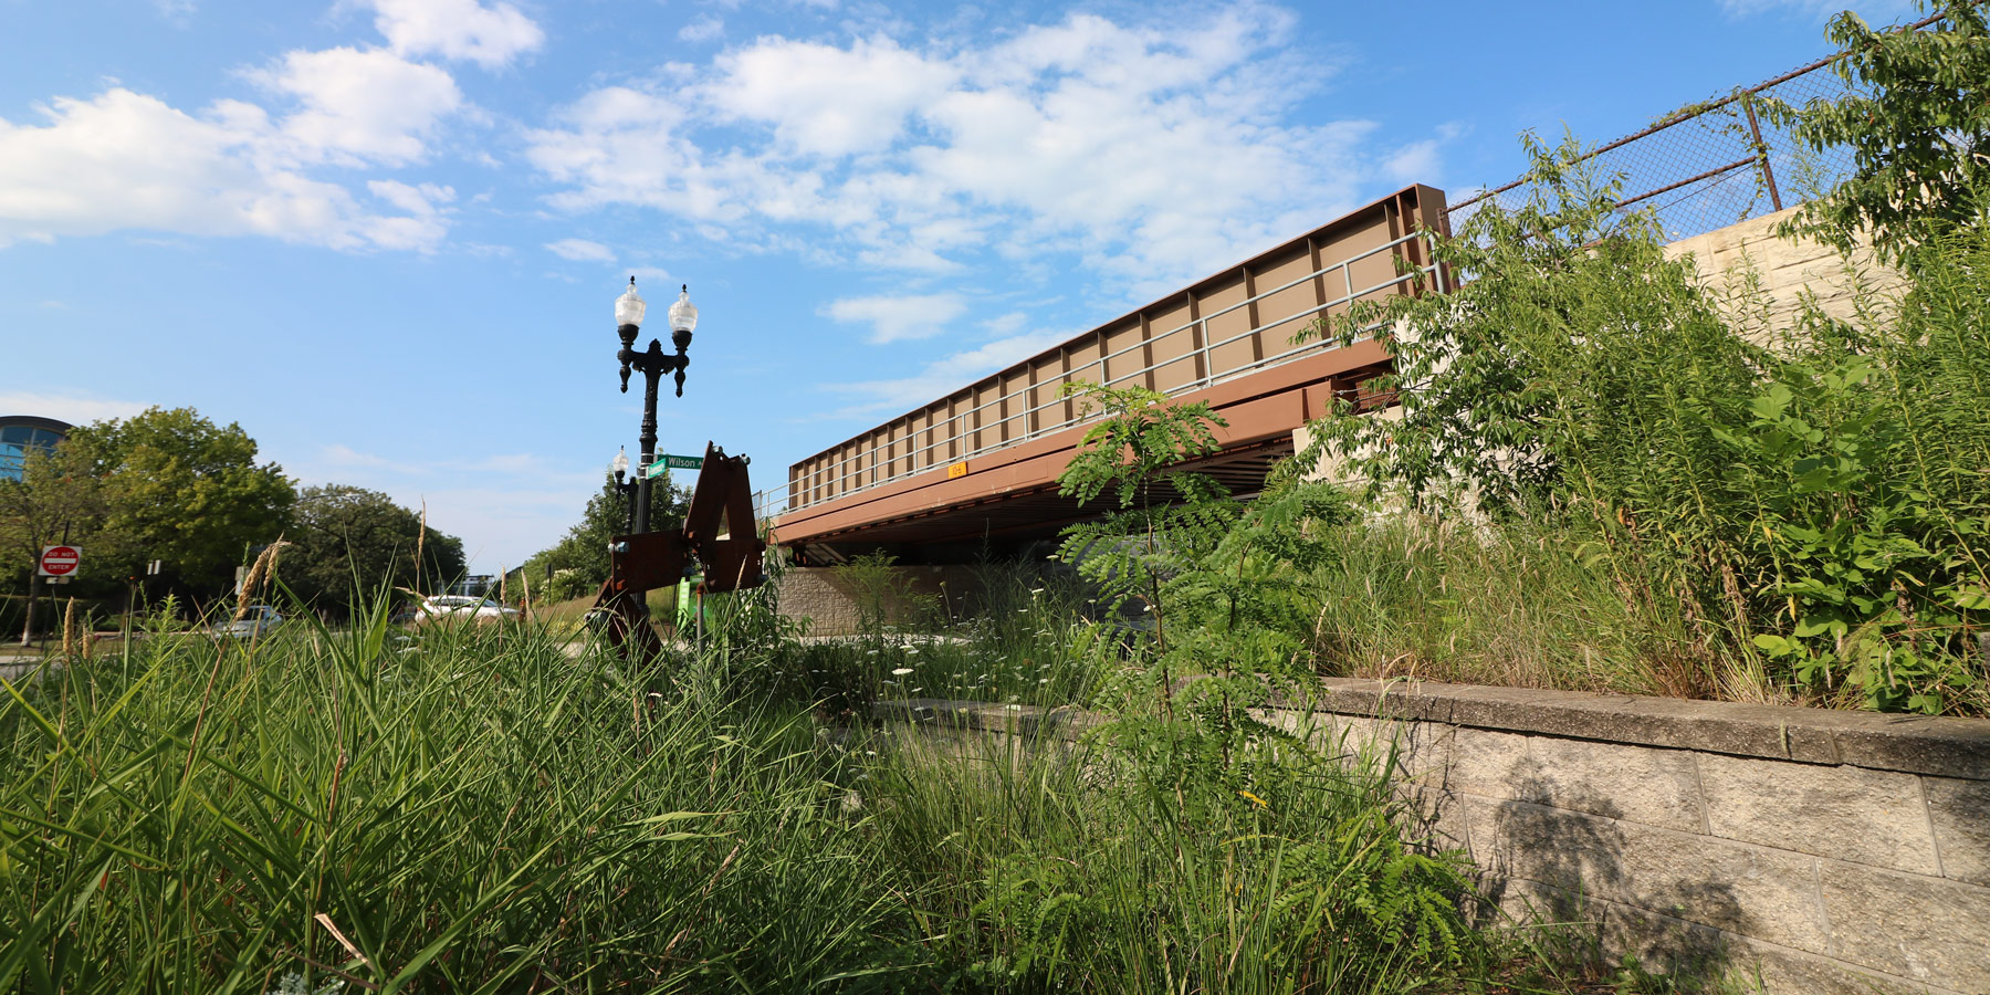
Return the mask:
<svg viewBox="0 0 1990 995"><path fill-rule="evenodd" d="M884 708L951 734L1093 720ZM1313 724L1399 742L1431 842L1610 955L1789 995L1990 993L1990 720L1333 679Z"/></svg>

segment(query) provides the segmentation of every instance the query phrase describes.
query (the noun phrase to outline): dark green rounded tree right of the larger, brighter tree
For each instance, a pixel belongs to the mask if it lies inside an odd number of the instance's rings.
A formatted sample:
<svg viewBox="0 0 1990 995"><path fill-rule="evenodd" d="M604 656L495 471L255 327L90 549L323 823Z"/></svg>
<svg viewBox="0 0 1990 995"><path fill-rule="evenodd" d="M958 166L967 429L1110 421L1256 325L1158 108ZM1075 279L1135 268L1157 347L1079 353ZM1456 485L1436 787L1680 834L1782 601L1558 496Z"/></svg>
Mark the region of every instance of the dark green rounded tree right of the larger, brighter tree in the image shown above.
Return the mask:
<svg viewBox="0 0 1990 995"><path fill-rule="evenodd" d="M300 599L336 615L350 615L380 585L438 587L466 569L462 539L424 531L420 515L392 498L344 484L306 488L289 537L293 549L283 557L283 581ZM416 545L422 549L420 573Z"/></svg>

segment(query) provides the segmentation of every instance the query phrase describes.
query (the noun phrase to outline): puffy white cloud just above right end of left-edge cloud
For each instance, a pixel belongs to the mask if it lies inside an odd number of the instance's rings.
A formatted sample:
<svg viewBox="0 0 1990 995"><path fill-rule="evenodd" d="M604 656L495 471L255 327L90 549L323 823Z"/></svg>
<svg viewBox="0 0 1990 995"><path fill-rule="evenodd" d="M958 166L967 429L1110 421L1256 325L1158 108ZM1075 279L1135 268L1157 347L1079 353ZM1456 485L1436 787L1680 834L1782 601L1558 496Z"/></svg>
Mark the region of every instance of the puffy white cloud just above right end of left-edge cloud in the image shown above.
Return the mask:
<svg viewBox="0 0 1990 995"><path fill-rule="evenodd" d="M304 161L418 161L424 139L464 105L448 72L384 50L287 52L249 78L298 100L302 107L281 127Z"/></svg>

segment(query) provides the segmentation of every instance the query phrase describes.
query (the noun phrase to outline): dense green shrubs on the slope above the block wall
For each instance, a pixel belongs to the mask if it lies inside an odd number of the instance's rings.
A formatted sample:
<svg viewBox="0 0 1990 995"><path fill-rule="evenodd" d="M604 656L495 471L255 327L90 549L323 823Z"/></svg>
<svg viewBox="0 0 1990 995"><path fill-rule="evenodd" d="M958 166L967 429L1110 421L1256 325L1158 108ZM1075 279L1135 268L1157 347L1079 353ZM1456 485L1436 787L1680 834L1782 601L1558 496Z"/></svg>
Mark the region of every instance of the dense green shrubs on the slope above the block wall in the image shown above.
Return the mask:
<svg viewBox="0 0 1990 995"><path fill-rule="evenodd" d="M1528 203L1441 239L1451 293L1355 308L1397 326L1401 420L1329 418L1321 448L1371 496L1492 521L1544 515L1634 613L1684 607L1688 695L1749 695L1757 653L1789 693L1873 708L1982 710L1990 468L1990 235L1896 306L1815 306L1777 348L1737 334L1574 143L1534 147ZM1759 291L1729 300L1759 314ZM1759 332L1759 328L1757 328Z"/></svg>

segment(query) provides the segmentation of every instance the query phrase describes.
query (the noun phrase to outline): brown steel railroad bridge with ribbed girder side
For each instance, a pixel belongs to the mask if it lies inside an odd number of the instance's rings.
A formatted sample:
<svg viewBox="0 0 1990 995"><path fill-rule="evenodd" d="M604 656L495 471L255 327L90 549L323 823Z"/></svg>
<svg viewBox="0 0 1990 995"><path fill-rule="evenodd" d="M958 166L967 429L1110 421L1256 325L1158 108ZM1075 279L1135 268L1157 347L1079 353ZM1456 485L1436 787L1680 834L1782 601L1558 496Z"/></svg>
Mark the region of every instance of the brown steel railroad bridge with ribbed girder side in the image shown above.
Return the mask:
<svg viewBox="0 0 1990 995"><path fill-rule="evenodd" d="M899 563L961 563L1051 539L1096 515L1057 494L1057 476L1096 412L1065 384L1144 386L1206 400L1228 422L1196 460L1236 494L1264 486L1294 430L1387 398L1373 338L1294 338L1361 300L1417 293L1433 273L1425 231L1445 231L1445 195L1413 185L1174 291L1023 362L830 446L788 470L774 539L798 563L886 549Z"/></svg>

